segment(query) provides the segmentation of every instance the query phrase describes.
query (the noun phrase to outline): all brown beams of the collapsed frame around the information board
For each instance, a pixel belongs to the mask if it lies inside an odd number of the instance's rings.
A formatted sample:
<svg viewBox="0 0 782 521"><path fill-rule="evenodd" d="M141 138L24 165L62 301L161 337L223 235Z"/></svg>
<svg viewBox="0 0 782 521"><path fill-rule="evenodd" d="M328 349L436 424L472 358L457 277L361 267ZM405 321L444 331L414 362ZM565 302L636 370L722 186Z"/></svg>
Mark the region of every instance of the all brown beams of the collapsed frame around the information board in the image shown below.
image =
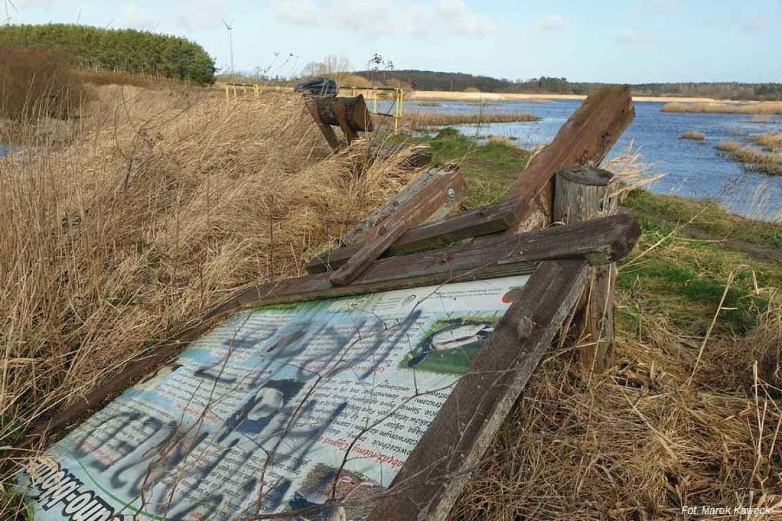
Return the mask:
<svg viewBox="0 0 782 521"><path fill-rule="evenodd" d="M352 127L360 124L350 123L351 118L358 120L366 112L361 96L350 107L343 103L327 103L328 107L314 101L307 104L334 148L339 148L339 140L330 124L339 123L350 141L355 137ZM590 277L590 265L603 266L622 258L640 236L640 228L628 216L517 234L537 219L536 213L545 214L538 223L551 219L554 174L583 163L600 162L630 124L633 113L626 87L590 96L502 202L450 218L439 215L443 219L435 223L426 221L453 208L449 199L454 197L443 196L443 190L458 191L461 198L466 187L457 170L430 170L373 212L364 226L353 230L347 247L310 262L307 269L313 274L239 291L180 334L142 352L112 380L27 434L20 448L34 446L49 431L64 430L76 423L91 409L178 355L218 321L242 309L531 274L387 494L378 498L369 519L445 518L554 336L579 302ZM371 120L363 124L371 127ZM442 247L472 237L482 240L380 259L382 255ZM337 271L329 271L335 268Z"/></svg>

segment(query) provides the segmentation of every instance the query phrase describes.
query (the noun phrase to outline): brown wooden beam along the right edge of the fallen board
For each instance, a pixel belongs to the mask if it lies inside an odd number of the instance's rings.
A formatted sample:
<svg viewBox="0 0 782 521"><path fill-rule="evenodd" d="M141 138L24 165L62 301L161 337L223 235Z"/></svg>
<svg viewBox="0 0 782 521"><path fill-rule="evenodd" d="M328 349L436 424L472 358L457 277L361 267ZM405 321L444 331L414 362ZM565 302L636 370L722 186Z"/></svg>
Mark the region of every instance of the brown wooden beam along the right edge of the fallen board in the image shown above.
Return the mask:
<svg viewBox="0 0 782 521"><path fill-rule="evenodd" d="M475 355L370 521L448 519L454 502L583 291L587 263L547 261Z"/></svg>

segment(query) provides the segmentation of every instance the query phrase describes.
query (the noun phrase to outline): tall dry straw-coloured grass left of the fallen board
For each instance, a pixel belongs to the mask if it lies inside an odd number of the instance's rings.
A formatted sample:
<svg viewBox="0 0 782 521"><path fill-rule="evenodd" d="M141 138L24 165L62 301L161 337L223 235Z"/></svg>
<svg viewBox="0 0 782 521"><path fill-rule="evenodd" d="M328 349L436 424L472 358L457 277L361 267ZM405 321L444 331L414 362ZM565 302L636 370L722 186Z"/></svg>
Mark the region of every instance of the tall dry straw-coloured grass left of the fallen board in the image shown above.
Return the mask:
<svg viewBox="0 0 782 521"><path fill-rule="evenodd" d="M84 110L66 148L0 159L0 446L233 288L300 273L414 175L359 175L364 143L330 155L290 95L100 87Z"/></svg>

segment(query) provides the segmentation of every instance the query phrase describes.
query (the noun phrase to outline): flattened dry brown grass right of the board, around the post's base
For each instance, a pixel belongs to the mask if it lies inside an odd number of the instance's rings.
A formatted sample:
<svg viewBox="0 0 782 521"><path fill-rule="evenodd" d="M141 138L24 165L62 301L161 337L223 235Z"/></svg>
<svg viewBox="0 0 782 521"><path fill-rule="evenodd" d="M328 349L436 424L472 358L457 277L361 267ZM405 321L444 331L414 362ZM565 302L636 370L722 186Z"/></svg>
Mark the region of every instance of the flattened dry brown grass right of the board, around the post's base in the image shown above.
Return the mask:
<svg viewBox="0 0 782 521"><path fill-rule="evenodd" d="M688 248L676 234L662 246L657 238L642 237L620 269L636 269L657 248ZM726 291L743 269L731 271ZM694 338L673 325L664 307L654 308L653 295L619 291L619 308L639 315L619 334L617 365L587 381L573 348L546 359L454 517L701 519L683 516L684 505L775 506L780 512L778 291L757 290L769 298L769 308L759 327L741 338L712 334L711 327ZM707 311L712 326L726 312L718 312L722 306Z"/></svg>

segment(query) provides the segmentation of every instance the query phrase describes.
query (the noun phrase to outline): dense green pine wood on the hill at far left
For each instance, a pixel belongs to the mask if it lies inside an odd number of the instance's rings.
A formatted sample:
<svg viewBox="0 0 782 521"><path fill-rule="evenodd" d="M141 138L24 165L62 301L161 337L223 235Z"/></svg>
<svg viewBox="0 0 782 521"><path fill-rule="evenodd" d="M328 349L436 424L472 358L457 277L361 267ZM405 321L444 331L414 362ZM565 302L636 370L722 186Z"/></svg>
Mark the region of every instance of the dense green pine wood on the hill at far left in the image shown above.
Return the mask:
<svg viewBox="0 0 782 521"><path fill-rule="evenodd" d="M202 85L214 83L214 60L200 45L182 37L49 23L0 27L0 45L66 52L84 68L157 74Z"/></svg>

